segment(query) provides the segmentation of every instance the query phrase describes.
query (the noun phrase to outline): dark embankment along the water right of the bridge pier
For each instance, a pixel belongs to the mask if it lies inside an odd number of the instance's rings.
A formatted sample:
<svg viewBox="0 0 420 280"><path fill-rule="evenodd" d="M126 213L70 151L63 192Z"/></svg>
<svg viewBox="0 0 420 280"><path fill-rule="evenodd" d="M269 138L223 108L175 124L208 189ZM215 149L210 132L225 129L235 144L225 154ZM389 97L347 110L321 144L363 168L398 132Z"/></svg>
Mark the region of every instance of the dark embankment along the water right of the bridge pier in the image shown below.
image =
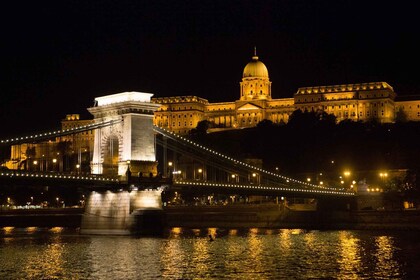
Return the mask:
<svg viewBox="0 0 420 280"><path fill-rule="evenodd" d="M420 211L296 211L281 205L168 207L170 227L420 230Z"/></svg>

